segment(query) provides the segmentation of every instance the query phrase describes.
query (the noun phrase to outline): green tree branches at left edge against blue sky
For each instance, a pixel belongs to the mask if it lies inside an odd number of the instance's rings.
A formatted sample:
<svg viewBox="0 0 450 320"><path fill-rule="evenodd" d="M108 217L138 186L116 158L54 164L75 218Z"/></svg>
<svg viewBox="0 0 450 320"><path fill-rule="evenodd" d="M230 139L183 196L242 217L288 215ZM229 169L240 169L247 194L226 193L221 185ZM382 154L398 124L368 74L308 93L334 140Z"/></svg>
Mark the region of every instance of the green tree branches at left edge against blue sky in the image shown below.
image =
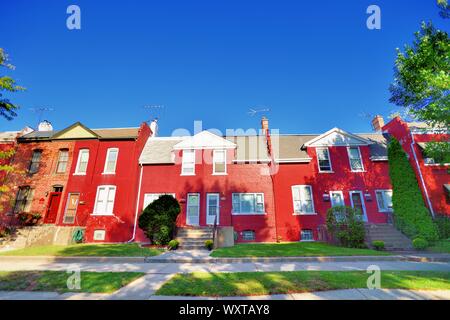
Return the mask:
<svg viewBox="0 0 450 320"><path fill-rule="evenodd" d="M8 62L8 55L0 48L0 67L7 70L14 70L14 66ZM4 91L17 92L23 91L25 88L17 85L16 81L10 76L0 76L0 116L12 120L17 116L16 110L19 108L16 104L12 103L9 99L3 97Z"/></svg>

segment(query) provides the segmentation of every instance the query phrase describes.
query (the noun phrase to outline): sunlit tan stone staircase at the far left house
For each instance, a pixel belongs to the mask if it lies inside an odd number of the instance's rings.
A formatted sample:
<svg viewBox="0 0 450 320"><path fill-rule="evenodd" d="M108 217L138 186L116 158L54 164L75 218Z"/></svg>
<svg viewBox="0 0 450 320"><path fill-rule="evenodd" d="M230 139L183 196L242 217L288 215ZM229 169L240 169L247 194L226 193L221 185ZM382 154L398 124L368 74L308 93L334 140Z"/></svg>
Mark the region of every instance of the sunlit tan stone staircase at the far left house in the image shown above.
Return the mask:
<svg viewBox="0 0 450 320"><path fill-rule="evenodd" d="M23 249L33 246L45 246L53 243L57 227L43 224L17 229L14 236L2 243L3 249Z"/></svg>

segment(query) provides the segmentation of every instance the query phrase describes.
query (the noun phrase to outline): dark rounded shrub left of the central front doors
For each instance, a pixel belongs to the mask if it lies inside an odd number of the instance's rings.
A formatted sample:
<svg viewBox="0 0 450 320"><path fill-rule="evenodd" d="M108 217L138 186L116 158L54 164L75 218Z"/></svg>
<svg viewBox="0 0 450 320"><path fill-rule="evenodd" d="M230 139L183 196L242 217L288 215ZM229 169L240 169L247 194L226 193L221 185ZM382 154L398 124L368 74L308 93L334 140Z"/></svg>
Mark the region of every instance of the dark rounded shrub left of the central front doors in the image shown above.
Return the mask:
<svg viewBox="0 0 450 320"><path fill-rule="evenodd" d="M162 195L149 204L139 217L139 228L152 243L166 245L175 231L180 204L171 195Z"/></svg>

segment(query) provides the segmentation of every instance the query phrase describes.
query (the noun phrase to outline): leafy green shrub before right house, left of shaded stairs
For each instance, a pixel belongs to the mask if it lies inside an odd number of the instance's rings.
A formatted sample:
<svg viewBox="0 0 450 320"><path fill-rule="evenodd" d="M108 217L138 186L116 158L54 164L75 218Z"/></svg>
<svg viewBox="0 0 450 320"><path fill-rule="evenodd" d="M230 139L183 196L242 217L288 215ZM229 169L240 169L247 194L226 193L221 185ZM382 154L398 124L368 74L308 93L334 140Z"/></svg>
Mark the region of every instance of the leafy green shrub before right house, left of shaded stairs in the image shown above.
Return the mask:
<svg viewBox="0 0 450 320"><path fill-rule="evenodd" d="M344 247L365 247L366 233L362 215L353 208L336 206L328 209L327 228Z"/></svg>

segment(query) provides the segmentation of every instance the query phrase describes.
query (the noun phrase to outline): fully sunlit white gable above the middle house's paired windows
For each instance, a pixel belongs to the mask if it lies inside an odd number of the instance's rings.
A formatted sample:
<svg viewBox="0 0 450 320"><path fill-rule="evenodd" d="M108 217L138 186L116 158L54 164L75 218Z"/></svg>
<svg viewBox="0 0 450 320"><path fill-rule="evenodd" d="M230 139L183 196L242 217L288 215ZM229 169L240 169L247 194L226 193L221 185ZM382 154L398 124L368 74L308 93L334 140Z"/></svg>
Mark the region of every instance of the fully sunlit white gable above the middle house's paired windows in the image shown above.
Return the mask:
<svg viewBox="0 0 450 320"><path fill-rule="evenodd" d="M202 131L197 133L180 143L177 143L173 149L234 149L236 144L228 141L209 131Z"/></svg>

